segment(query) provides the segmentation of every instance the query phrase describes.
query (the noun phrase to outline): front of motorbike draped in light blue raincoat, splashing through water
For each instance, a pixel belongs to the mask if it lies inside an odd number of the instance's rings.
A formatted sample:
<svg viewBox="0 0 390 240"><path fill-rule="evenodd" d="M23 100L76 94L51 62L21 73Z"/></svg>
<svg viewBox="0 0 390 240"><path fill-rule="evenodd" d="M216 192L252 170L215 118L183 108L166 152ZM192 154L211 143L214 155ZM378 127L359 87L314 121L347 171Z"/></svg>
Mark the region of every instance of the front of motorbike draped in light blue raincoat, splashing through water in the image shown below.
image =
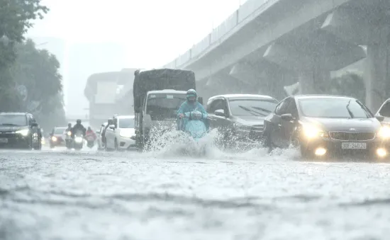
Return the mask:
<svg viewBox="0 0 390 240"><path fill-rule="evenodd" d="M190 142L194 143L192 144L192 150L200 155L206 154L206 143L201 142L201 139L207 135L207 127L204 124L204 121L202 121L203 117L204 115L201 112L191 111L184 113L184 118L186 118L187 121L180 121L180 124L182 125L181 129L184 130L184 135L188 136L189 139L191 139ZM189 149L187 149L187 152L188 150Z"/></svg>

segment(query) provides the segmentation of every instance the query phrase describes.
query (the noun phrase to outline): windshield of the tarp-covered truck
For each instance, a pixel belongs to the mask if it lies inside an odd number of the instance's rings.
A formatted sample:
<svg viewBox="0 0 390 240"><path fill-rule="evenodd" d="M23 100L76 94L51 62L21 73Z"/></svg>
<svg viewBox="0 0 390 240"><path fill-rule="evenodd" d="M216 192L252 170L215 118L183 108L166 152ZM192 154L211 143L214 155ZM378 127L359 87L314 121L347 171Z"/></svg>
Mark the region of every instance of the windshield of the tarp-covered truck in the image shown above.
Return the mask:
<svg viewBox="0 0 390 240"><path fill-rule="evenodd" d="M185 93L158 93L147 97L146 113L152 120L176 118L176 111L186 101Z"/></svg>

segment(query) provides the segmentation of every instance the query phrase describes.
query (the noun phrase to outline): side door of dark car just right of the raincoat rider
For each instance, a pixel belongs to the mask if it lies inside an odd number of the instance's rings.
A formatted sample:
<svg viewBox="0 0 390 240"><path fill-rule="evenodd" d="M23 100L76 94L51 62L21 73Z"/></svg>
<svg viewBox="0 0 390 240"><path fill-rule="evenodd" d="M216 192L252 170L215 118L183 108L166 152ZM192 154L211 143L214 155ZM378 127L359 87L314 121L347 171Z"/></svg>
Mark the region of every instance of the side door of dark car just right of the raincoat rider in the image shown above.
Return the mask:
<svg viewBox="0 0 390 240"><path fill-rule="evenodd" d="M216 115L216 110L223 110L225 115ZM218 131L225 132L228 127L228 108L225 98L215 98L207 108L208 118L210 119L211 129L218 129Z"/></svg>

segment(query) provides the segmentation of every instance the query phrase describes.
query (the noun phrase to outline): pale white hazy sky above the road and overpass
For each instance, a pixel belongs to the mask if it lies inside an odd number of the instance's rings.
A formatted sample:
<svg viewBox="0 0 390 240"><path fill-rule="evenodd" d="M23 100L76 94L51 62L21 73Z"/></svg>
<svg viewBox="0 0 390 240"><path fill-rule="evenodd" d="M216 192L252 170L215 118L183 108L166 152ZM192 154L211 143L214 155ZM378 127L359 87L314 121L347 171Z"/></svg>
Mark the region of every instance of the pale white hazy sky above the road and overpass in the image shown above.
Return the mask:
<svg viewBox="0 0 390 240"><path fill-rule="evenodd" d="M122 42L127 67L162 67L189 50L245 0L43 0L50 13L30 36ZM121 67L118 67L120 69Z"/></svg>

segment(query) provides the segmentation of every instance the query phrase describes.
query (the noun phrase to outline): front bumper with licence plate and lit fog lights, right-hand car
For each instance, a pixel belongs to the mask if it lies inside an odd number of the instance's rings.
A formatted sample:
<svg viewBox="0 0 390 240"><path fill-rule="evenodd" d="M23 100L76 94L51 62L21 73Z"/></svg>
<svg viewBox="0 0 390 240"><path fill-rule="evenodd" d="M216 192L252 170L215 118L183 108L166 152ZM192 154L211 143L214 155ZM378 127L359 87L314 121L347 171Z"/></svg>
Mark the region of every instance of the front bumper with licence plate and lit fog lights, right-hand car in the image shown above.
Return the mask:
<svg viewBox="0 0 390 240"><path fill-rule="evenodd" d="M389 156L390 144L381 139L366 141L341 141L330 138L318 138L301 140L303 151L314 156L355 156L355 157L379 157Z"/></svg>

